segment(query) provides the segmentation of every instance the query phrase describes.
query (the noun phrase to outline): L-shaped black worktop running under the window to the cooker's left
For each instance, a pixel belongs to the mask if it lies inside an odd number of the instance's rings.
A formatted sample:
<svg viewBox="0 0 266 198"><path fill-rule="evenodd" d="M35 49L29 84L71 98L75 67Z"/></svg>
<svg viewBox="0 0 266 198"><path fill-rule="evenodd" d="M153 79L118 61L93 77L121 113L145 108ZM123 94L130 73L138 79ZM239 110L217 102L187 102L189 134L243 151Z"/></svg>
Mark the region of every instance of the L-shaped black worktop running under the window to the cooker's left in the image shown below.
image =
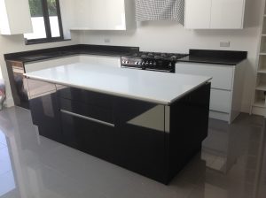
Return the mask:
<svg viewBox="0 0 266 198"><path fill-rule="evenodd" d="M86 45L77 44L43 50L30 50L11 54L5 54L4 59L20 61L23 63L40 61L57 57L69 57L75 55L100 55L121 57L129 56L139 51L138 47L109 46L109 45Z"/></svg>

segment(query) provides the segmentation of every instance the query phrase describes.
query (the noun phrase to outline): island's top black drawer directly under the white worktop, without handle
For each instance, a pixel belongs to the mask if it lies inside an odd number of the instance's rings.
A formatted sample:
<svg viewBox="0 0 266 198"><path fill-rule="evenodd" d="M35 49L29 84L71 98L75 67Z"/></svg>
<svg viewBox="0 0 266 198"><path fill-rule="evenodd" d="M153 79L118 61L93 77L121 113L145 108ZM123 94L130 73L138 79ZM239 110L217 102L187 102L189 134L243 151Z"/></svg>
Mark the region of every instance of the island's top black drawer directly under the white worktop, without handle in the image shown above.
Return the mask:
<svg viewBox="0 0 266 198"><path fill-rule="evenodd" d="M80 88L62 87L60 85L57 85L57 89L59 98L112 109L114 97L112 95L101 94Z"/></svg>

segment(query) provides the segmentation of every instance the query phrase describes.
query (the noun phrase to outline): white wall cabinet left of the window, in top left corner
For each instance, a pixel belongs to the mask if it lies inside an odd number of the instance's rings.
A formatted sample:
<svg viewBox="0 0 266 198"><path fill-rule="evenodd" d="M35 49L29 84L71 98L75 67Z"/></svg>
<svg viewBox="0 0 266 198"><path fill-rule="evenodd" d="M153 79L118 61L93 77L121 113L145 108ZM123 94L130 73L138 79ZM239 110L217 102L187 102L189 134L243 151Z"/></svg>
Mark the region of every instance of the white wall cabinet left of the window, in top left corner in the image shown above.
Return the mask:
<svg viewBox="0 0 266 198"><path fill-rule="evenodd" d="M32 31L28 0L0 0L1 34L25 34Z"/></svg>

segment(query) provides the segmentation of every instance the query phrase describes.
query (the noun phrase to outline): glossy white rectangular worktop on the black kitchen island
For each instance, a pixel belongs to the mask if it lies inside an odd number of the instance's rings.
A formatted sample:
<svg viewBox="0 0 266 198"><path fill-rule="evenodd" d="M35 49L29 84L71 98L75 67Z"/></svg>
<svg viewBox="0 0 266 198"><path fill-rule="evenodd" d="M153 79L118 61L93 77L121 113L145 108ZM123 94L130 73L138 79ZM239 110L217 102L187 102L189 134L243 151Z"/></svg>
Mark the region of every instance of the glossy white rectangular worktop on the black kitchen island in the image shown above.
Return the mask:
<svg viewBox="0 0 266 198"><path fill-rule="evenodd" d="M27 72L25 76L34 80L160 104L170 104L211 80L211 77L204 76L82 63Z"/></svg>

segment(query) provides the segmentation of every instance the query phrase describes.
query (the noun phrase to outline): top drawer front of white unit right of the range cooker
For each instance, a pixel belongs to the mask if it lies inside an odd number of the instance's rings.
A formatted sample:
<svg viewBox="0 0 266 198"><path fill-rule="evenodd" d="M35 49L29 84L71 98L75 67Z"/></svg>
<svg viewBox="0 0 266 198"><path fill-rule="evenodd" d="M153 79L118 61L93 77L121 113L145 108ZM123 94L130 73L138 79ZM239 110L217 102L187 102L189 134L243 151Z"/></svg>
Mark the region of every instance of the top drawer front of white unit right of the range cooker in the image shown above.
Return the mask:
<svg viewBox="0 0 266 198"><path fill-rule="evenodd" d="M176 73L210 76L212 88L232 89L233 66L213 64L177 63Z"/></svg>

